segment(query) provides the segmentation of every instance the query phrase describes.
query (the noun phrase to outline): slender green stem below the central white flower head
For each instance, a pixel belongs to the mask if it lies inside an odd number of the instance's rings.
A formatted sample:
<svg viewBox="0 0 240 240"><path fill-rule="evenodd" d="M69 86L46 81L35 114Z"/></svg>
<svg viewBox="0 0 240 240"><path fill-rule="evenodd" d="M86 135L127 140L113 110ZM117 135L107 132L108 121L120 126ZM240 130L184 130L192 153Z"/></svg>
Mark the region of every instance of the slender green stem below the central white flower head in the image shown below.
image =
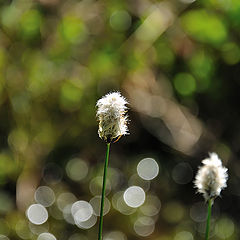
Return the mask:
<svg viewBox="0 0 240 240"><path fill-rule="evenodd" d="M102 240L103 208L104 208L104 198L105 198L105 189L106 189L106 180L107 180L107 167L108 167L109 151L110 151L110 143L107 143L107 152L106 152L106 158L105 158L105 163L104 163L104 172L103 172L102 198L101 198L101 208L100 208L98 240Z"/></svg>

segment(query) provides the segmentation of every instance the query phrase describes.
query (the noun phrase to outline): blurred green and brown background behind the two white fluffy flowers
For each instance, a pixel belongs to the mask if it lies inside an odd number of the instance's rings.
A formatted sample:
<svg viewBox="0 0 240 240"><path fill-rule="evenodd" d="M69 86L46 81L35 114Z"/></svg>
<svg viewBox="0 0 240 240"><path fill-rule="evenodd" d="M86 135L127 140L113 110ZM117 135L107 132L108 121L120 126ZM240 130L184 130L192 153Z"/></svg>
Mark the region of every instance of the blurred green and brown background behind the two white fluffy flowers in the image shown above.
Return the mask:
<svg viewBox="0 0 240 240"><path fill-rule="evenodd" d="M239 239L239 41L239 0L0 0L0 239L97 238L95 215L76 226L69 209L100 194L95 104L114 90L130 135L111 147L104 240L203 239L192 181L212 151L230 177L211 239ZM137 174L144 158L152 180ZM122 199L133 185L139 208ZM26 214L35 203L43 224Z"/></svg>

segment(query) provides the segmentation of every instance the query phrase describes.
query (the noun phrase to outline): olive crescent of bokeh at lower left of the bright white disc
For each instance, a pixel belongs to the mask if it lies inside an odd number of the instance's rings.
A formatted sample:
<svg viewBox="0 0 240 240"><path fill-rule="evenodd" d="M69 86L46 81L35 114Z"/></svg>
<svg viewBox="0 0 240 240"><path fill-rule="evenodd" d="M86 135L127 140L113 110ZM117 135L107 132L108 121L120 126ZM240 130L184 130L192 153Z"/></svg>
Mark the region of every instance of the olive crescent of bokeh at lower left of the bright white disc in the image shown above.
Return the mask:
<svg viewBox="0 0 240 240"><path fill-rule="evenodd" d="M123 191L116 192L112 197L112 205L120 213L131 215L136 212L136 208L129 207L123 199Z"/></svg>

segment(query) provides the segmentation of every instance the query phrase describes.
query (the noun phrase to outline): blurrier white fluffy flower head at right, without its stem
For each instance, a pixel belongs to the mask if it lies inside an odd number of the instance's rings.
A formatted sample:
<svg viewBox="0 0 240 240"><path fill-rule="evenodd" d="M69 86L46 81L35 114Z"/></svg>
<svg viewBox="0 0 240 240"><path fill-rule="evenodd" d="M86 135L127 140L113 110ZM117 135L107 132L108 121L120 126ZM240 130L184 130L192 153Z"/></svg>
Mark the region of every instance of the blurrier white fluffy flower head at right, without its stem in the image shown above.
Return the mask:
<svg viewBox="0 0 240 240"><path fill-rule="evenodd" d="M214 199L220 195L221 190L227 187L227 168L222 166L222 161L216 153L210 153L209 158L202 161L197 172L194 184L205 200Z"/></svg>

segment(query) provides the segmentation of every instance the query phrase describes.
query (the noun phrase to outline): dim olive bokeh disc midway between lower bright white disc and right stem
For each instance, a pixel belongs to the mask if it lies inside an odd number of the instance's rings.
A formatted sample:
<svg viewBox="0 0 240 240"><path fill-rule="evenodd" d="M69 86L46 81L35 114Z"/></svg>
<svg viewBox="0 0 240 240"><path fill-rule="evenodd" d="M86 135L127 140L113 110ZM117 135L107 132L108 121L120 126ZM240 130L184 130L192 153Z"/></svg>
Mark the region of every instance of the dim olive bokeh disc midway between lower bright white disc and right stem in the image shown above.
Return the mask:
<svg viewBox="0 0 240 240"><path fill-rule="evenodd" d="M163 206L162 214L166 221L177 223L184 217L185 209L179 202L168 202Z"/></svg>

